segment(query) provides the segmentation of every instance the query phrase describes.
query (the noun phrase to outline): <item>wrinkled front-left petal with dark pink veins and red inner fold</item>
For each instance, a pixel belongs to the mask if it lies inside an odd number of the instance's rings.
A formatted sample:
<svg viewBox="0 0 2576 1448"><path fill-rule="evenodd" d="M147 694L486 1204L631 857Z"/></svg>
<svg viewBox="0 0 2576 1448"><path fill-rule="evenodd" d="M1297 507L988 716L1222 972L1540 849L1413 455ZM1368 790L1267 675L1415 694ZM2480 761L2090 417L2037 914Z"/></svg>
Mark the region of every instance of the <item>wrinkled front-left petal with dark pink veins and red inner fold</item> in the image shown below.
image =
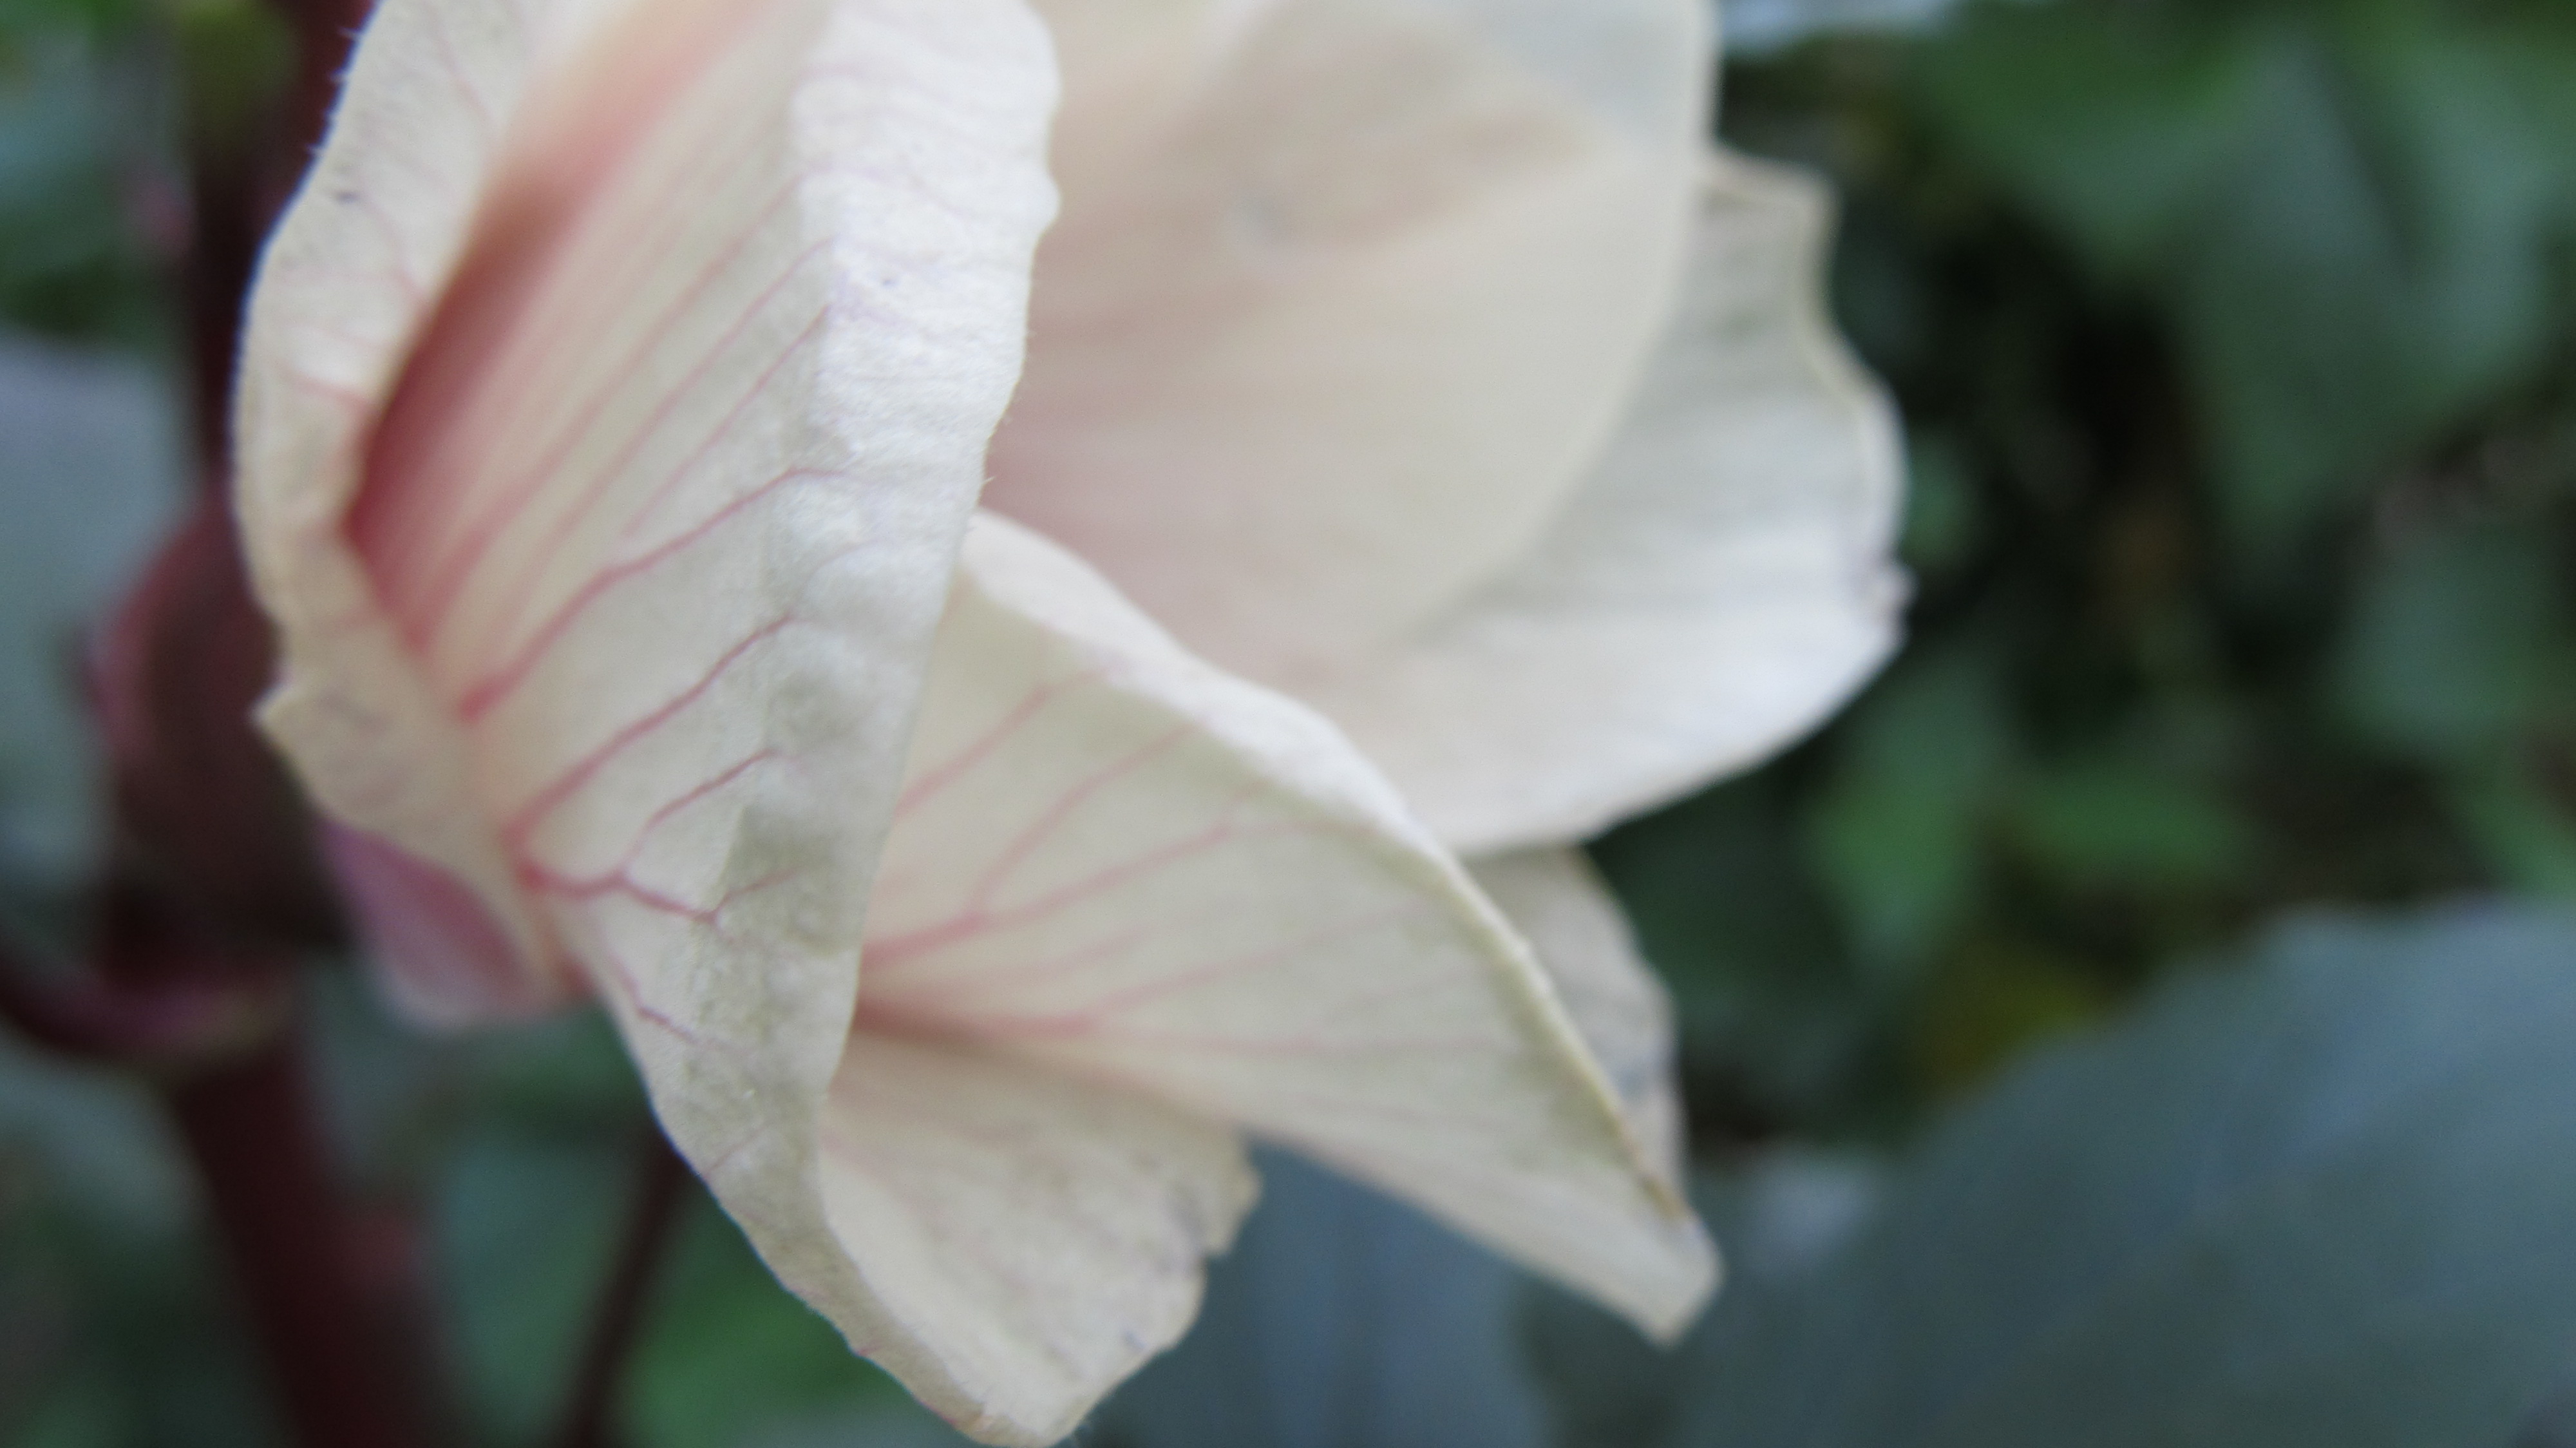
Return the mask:
<svg viewBox="0 0 2576 1448"><path fill-rule="evenodd" d="M863 1342L817 1118L1051 106L1015 0L386 0L245 353L263 719L397 987L603 995Z"/></svg>

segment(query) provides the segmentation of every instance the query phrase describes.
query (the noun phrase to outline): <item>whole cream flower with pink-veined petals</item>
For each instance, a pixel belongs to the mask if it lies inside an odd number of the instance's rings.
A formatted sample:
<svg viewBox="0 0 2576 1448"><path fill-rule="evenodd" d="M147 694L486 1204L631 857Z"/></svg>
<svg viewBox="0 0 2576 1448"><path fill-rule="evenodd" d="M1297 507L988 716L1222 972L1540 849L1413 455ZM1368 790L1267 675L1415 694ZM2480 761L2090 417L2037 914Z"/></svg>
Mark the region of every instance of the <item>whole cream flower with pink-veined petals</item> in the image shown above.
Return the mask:
<svg viewBox="0 0 2576 1448"><path fill-rule="evenodd" d="M1698 10L384 0L237 433L394 992L598 997L994 1443L1182 1332L1244 1131L1687 1322L1664 1005L1561 843L1893 603Z"/></svg>

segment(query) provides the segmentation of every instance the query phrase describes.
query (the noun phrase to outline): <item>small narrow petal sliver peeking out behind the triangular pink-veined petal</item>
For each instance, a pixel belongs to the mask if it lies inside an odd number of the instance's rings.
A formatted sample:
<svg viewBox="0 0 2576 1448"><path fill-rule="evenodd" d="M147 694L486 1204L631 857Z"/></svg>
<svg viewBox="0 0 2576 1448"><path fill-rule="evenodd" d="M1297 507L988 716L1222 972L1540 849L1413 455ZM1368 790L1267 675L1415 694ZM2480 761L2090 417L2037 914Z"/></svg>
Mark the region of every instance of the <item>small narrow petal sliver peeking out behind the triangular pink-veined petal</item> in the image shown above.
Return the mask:
<svg viewBox="0 0 2576 1448"><path fill-rule="evenodd" d="M1538 848L1468 863L1476 886L1538 956L1556 1000L1610 1077L1628 1131L1682 1190L1682 1090L1672 1059L1672 995L1636 951L1628 917L1582 850Z"/></svg>

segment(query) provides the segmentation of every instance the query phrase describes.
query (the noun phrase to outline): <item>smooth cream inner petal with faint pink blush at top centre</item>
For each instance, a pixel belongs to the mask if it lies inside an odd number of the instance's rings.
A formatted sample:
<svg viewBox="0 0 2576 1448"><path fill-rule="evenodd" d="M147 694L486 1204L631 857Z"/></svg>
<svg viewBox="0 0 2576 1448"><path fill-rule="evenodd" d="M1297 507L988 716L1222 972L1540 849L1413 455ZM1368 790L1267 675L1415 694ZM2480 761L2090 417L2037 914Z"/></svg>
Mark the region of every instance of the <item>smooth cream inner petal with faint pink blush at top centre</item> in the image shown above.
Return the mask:
<svg viewBox="0 0 2576 1448"><path fill-rule="evenodd" d="M987 505L1291 685L1540 533L1672 301L1705 0L1051 0Z"/></svg>

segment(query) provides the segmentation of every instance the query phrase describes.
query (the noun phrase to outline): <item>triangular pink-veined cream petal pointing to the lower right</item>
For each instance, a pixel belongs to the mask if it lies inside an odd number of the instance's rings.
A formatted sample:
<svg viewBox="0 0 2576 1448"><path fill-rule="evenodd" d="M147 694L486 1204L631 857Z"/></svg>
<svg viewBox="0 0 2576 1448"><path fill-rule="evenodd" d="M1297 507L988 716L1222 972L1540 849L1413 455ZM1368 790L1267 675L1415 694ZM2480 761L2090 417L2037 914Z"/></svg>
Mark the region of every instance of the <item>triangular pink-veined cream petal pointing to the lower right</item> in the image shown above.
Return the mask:
<svg viewBox="0 0 2576 1448"><path fill-rule="evenodd" d="M1713 1255L1528 948L1321 719L979 518L871 902L863 1031L1306 1149L1656 1332ZM858 1250L858 1244L853 1244Z"/></svg>

